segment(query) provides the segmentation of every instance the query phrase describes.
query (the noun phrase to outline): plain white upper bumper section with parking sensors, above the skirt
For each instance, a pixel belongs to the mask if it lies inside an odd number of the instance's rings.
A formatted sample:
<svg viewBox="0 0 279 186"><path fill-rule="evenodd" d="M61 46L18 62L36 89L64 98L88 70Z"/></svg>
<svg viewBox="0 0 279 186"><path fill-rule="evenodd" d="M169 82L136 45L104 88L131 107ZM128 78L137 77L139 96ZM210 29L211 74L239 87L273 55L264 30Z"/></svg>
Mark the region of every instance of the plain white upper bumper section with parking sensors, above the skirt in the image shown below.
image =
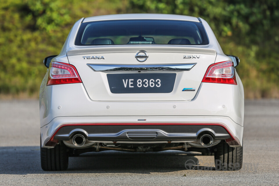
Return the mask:
<svg viewBox="0 0 279 186"><path fill-rule="evenodd" d="M82 83L51 85L46 87L40 99L40 123L42 127L53 118L69 116L138 116L136 119L145 119L145 116L226 116L243 126L244 99L237 85L201 83L196 91L196 96L188 101L93 101Z"/></svg>

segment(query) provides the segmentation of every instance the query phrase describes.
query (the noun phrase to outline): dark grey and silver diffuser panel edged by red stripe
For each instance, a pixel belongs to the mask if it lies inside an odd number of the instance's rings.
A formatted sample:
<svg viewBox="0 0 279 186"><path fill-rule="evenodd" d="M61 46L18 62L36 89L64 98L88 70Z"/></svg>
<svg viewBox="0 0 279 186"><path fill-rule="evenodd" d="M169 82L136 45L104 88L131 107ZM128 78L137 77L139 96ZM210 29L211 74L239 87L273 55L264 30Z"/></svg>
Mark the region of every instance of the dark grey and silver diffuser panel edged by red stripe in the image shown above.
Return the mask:
<svg viewBox="0 0 279 186"><path fill-rule="evenodd" d="M81 132L93 142L177 142L196 140L201 133L212 133L216 140L230 138L226 129L218 124L65 124L53 139L70 140Z"/></svg>

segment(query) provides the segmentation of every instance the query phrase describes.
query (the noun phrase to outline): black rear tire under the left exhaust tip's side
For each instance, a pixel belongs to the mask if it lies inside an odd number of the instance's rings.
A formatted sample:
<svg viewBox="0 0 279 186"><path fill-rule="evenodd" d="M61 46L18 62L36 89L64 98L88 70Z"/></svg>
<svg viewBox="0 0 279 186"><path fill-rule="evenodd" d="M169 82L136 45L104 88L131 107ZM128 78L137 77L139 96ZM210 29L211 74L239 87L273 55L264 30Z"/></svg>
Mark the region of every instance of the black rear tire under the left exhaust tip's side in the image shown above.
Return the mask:
<svg viewBox="0 0 279 186"><path fill-rule="evenodd" d="M41 167L44 171L64 171L68 163L69 153L63 142L51 149L41 146Z"/></svg>

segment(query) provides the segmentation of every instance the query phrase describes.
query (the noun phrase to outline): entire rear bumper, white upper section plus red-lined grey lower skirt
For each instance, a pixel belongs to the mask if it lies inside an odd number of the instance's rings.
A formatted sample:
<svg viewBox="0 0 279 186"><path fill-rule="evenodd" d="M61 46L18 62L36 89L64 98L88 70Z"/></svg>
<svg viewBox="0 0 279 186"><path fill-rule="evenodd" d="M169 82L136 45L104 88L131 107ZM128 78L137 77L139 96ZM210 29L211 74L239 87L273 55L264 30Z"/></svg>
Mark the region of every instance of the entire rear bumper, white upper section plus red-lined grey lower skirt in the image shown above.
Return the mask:
<svg viewBox="0 0 279 186"><path fill-rule="evenodd" d="M133 130L157 133L158 138L156 136L146 142L187 142L196 140L203 129L193 129L191 125L207 125L204 128L211 130L211 126L218 125L230 135L230 138L226 138L230 146L242 146L244 99L240 96L238 85L201 83L196 96L189 101L93 101L82 83L47 86L43 94L40 99L40 123L44 148L51 147L46 143L55 144L60 140L59 137L55 138L56 133L71 125L75 129L91 126L85 134L94 141L121 140L130 143L137 142L127 135ZM109 133L99 133L95 130L97 125L104 125L108 131L113 125L125 125L127 128L119 127ZM131 125L138 127L128 127ZM147 125L158 127L148 131L151 128L143 127ZM160 125L168 125L170 129L175 125L185 126L179 132L171 132ZM70 132L63 133L65 136L62 137L68 139ZM214 130L212 133L218 135Z"/></svg>

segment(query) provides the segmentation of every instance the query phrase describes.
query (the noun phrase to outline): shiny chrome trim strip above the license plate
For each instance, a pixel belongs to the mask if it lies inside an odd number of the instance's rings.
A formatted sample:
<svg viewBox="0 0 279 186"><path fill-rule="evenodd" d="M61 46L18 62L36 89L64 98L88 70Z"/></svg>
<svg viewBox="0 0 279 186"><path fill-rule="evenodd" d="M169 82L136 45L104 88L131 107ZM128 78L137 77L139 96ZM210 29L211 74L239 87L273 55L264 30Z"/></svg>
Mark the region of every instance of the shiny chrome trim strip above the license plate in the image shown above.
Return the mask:
<svg viewBox="0 0 279 186"><path fill-rule="evenodd" d="M197 63L166 65L87 65L94 71L189 71Z"/></svg>

